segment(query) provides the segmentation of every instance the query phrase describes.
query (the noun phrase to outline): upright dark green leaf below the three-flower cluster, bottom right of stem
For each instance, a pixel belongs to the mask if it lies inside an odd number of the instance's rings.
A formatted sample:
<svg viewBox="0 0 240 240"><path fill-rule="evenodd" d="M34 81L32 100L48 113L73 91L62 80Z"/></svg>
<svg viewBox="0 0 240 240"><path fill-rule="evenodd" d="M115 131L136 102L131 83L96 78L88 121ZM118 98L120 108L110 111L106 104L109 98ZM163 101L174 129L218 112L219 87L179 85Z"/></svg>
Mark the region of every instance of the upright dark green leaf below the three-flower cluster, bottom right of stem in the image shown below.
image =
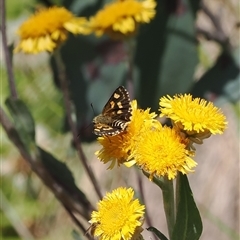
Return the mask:
<svg viewBox="0 0 240 240"><path fill-rule="evenodd" d="M186 175L178 176L176 198L177 216L172 240L198 240L202 234L202 220Z"/></svg>

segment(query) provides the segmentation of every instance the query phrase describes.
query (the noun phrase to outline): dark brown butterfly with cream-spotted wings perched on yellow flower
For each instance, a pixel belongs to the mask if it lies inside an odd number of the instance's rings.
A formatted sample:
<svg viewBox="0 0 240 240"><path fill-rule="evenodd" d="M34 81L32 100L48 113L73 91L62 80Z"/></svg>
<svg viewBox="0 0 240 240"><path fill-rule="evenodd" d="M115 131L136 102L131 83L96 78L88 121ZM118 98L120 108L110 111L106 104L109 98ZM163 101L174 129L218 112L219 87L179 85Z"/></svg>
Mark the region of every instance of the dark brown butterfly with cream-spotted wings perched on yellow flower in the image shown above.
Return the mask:
<svg viewBox="0 0 240 240"><path fill-rule="evenodd" d="M97 136L114 136L126 130L132 116L130 98L125 87L118 87L104 106L102 113L93 119L93 133Z"/></svg>

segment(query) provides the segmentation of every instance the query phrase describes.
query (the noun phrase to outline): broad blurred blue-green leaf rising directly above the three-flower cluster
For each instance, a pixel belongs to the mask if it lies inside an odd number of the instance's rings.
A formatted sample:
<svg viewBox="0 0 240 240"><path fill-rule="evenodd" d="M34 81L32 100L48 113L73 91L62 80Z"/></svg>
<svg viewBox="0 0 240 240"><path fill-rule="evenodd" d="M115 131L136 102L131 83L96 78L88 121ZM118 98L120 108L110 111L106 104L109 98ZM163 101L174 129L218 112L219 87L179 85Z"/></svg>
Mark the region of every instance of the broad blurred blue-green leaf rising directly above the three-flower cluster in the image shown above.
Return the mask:
<svg viewBox="0 0 240 240"><path fill-rule="evenodd" d="M141 76L138 99L142 108L156 111L161 96L183 93L192 86L198 63L198 2L158 1L155 18L142 28L135 57Z"/></svg>

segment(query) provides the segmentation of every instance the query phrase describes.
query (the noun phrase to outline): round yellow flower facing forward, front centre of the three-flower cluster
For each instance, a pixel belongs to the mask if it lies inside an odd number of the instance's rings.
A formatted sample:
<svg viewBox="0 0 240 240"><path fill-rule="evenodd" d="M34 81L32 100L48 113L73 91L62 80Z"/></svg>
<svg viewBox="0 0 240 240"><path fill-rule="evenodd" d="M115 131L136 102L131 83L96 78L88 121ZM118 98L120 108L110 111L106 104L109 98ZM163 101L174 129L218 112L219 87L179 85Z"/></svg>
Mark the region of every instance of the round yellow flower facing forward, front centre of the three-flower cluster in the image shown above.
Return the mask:
<svg viewBox="0 0 240 240"><path fill-rule="evenodd" d="M185 149L184 139L175 129L158 127L145 129L139 135L132 152L136 164L153 176L167 176L169 180L176 177L177 172L187 174L197 163L190 158L193 152Z"/></svg>

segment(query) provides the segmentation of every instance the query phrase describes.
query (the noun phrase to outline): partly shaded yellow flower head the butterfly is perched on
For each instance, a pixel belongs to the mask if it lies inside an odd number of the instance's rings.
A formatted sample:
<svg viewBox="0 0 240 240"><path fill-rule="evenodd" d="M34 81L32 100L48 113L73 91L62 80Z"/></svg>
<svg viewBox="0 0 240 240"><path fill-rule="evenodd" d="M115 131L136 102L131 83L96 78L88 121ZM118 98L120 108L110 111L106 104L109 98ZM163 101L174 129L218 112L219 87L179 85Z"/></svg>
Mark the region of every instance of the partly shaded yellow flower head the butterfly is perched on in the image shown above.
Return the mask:
<svg viewBox="0 0 240 240"><path fill-rule="evenodd" d="M134 148L135 139L141 132L144 125L151 125L156 122L153 118L157 115L150 113L150 109L137 109L137 101L131 102L132 117L126 131L115 136L99 137L98 142L102 149L96 152L97 157L104 163L112 161L109 166L112 169L117 162L118 165L129 160L131 150Z"/></svg>

